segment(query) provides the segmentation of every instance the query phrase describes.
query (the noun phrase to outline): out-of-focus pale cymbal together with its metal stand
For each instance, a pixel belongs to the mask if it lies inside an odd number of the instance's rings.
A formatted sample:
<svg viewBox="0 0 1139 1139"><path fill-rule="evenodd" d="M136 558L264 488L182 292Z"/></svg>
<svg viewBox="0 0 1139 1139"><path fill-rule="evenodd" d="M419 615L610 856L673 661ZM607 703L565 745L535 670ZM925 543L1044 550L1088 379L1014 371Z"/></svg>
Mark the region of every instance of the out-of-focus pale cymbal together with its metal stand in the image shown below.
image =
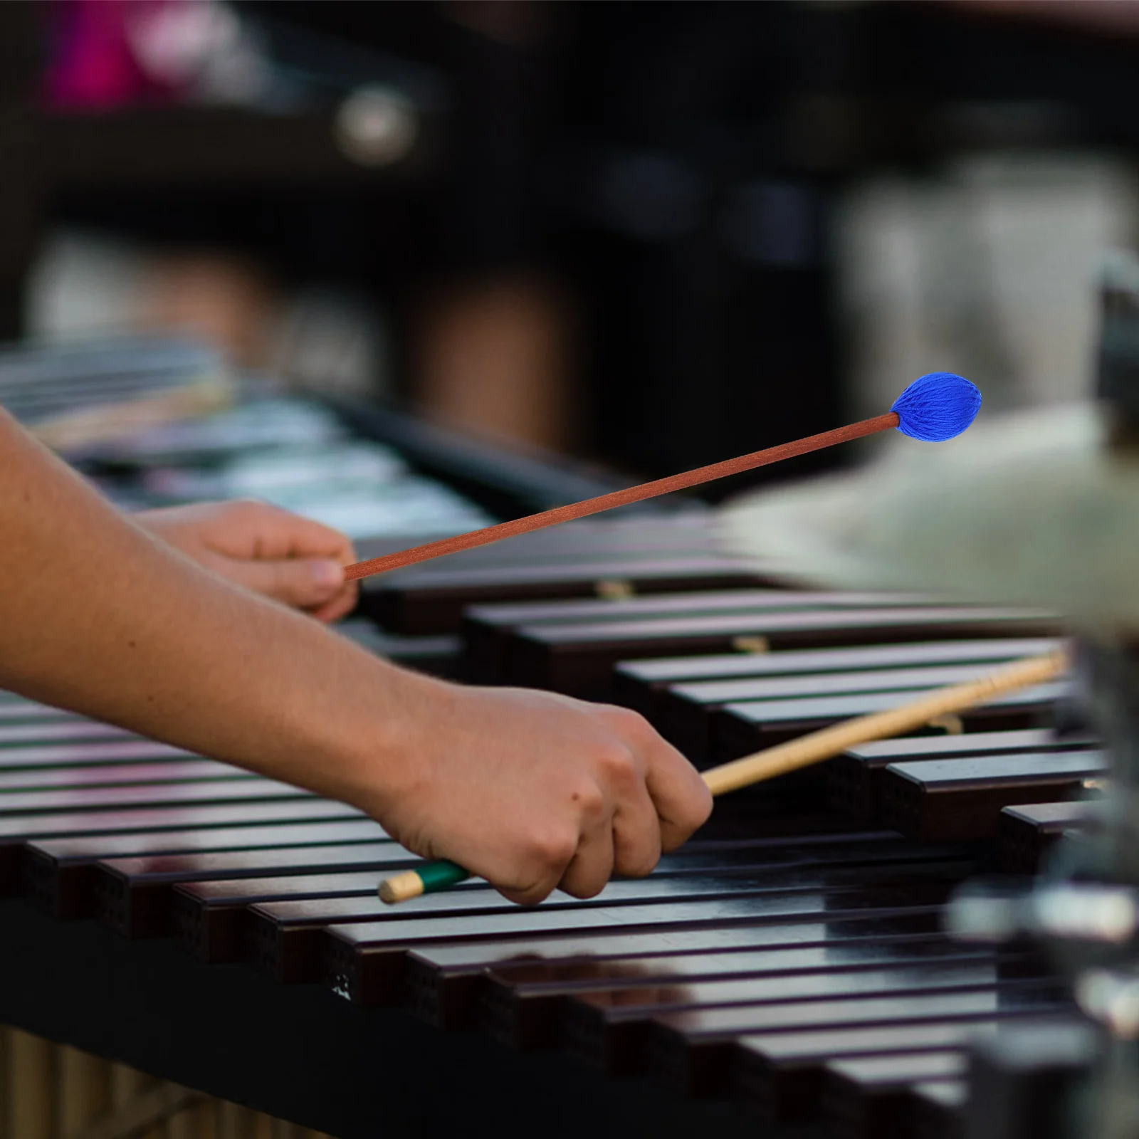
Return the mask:
<svg viewBox="0 0 1139 1139"><path fill-rule="evenodd" d="M968 884L972 941L1043 944L1095 1032L1024 1025L973 1059L966 1139L1139 1131L1139 260L1104 274L1098 402L1014 415L928 458L728 510L727 546L838 588L1048 605L1077 631L1077 679L1106 741L1097 826L1031 887Z"/></svg>

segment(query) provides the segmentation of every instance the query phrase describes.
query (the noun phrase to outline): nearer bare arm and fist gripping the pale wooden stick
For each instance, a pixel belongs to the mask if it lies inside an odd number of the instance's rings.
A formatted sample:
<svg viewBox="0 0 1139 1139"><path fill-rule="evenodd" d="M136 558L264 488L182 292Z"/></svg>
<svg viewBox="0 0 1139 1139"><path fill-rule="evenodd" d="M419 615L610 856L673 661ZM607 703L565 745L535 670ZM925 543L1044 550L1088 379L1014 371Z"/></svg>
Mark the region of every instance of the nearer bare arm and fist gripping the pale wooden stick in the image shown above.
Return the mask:
<svg viewBox="0 0 1139 1139"><path fill-rule="evenodd" d="M646 874L711 811L636 713L380 661L118 514L2 412L0 534L0 687L343 800L515 901Z"/></svg>

